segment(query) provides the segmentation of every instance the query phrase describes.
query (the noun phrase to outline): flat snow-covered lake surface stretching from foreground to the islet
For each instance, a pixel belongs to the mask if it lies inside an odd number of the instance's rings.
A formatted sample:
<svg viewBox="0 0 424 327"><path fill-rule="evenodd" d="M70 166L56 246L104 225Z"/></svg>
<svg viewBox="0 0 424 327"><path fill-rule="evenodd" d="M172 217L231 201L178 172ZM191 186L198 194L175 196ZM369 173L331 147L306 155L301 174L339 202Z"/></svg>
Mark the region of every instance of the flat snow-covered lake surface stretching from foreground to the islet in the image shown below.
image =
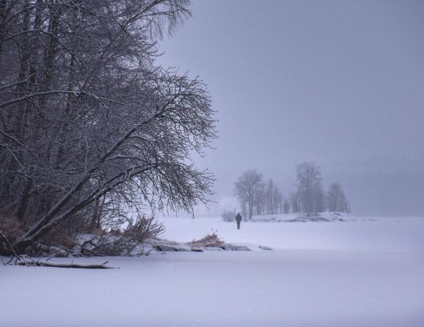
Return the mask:
<svg viewBox="0 0 424 327"><path fill-rule="evenodd" d="M110 270L0 266L0 326L424 326L424 218L163 221L167 239L214 230L256 251L107 258Z"/></svg>

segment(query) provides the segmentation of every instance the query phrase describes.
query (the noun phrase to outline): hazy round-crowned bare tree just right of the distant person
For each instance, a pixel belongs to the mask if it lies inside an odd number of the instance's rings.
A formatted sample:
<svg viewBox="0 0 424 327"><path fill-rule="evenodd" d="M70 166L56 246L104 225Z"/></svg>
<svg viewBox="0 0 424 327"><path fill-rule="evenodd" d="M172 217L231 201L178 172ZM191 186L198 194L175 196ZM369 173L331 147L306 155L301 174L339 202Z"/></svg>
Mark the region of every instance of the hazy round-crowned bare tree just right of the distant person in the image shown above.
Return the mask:
<svg viewBox="0 0 424 327"><path fill-rule="evenodd" d="M264 192L264 183L262 182L262 174L257 170L246 170L235 182L235 195L240 204L247 204L247 213L249 220L252 220L255 204L258 205L258 199Z"/></svg>

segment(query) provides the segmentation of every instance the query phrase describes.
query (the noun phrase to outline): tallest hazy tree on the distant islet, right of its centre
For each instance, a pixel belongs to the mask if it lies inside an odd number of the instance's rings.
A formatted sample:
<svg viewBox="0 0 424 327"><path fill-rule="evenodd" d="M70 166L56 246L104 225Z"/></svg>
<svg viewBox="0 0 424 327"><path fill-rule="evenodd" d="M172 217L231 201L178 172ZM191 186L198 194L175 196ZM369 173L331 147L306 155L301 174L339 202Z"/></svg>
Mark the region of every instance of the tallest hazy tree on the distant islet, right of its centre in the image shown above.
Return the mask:
<svg viewBox="0 0 424 327"><path fill-rule="evenodd" d="M314 162L303 162L298 165L296 177L298 179L297 193L300 197L302 211L308 216L322 210L324 203L321 172Z"/></svg>

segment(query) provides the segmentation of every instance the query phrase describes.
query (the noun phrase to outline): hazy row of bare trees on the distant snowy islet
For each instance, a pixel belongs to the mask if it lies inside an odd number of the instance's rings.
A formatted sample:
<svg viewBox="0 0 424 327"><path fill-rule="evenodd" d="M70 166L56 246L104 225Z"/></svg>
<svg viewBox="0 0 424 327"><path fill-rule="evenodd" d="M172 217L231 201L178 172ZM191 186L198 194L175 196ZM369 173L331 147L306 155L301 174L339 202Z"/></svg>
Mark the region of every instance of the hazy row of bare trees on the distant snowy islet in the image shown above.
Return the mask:
<svg viewBox="0 0 424 327"><path fill-rule="evenodd" d="M324 191L319 167L314 162L303 162L296 169L295 189L284 197L278 186L257 170L242 172L235 182L235 196L245 219L253 215L303 213L307 216L329 210L348 213L349 202L340 183L335 182Z"/></svg>

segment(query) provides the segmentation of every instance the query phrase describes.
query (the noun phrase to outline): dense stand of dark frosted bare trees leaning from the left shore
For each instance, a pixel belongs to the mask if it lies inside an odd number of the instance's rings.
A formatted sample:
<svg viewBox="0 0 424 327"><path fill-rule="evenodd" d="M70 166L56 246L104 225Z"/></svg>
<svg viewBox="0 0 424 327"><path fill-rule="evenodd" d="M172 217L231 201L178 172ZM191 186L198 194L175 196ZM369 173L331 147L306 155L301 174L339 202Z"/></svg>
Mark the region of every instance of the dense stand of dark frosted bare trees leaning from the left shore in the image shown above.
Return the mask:
<svg viewBox="0 0 424 327"><path fill-rule="evenodd" d="M207 201L213 177L189 160L216 137L206 85L154 61L188 4L0 1L0 210L18 253L66 224Z"/></svg>

